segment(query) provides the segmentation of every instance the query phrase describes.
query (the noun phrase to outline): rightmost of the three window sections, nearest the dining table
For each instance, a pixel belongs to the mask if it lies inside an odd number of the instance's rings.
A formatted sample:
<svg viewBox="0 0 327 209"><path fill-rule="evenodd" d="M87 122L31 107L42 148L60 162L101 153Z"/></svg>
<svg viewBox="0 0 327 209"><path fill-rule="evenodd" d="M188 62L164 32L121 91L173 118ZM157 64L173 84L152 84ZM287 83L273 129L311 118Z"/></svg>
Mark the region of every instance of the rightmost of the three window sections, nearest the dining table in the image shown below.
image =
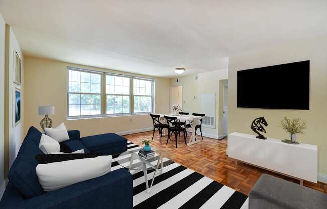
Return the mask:
<svg viewBox="0 0 327 209"><path fill-rule="evenodd" d="M134 113L150 113L153 110L153 81L134 78Z"/></svg>

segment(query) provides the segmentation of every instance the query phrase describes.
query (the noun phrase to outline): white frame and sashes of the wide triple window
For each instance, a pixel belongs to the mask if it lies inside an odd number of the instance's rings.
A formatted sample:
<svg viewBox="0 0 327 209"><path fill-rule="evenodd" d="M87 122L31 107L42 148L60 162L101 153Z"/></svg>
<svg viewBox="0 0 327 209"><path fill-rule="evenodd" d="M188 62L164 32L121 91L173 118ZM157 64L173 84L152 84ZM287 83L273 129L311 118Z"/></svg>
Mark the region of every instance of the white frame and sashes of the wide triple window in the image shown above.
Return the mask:
<svg viewBox="0 0 327 209"><path fill-rule="evenodd" d="M100 98L101 98L101 104L100 104L100 114L97 115L80 115L80 116L69 116L69 94L87 94L87 95L99 95L98 93L70 93L69 92L69 71L79 71L79 72L86 72L86 73L95 73L101 75L101 91L100 91ZM108 95L118 95L118 94L107 94L106 92L106 77L107 75L111 76L118 76L118 77L128 77L129 78L129 113L109 113L107 114L107 96ZM89 70L89 69L82 69L82 68L76 68L76 67L69 67L67 66L67 81L66 81L66 118L67 120L74 120L74 119L87 119L87 118L105 118L105 117L119 117L119 116L132 116L132 115L145 115L154 113L155 108L155 79L154 78L144 78L144 77L138 77L138 76L130 76L130 75L124 75L124 74L117 74L117 73L110 73L110 72L103 72L103 71L96 71L96 70ZM151 112L134 112L134 79L138 80L145 80L145 81L151 81ZM120 94L119 94L120 95ZM125 94L121 94L121 96L127 96ZM136 96L142 96L142 95L136 95ZM144 95L145 96L145 95ZM147 96L150 97L150 96ZM81 105L81 104L79 104Z"/></svg>

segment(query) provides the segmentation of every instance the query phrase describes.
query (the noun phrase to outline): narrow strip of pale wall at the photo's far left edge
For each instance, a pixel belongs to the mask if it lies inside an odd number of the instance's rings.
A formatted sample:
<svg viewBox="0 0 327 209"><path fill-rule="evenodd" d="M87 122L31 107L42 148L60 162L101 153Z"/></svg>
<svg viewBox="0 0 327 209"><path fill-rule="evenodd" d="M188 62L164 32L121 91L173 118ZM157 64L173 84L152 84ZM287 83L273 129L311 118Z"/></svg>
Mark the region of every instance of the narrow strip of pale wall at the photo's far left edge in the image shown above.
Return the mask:
<svg viewBox="0 0 327 209"><path fill-rule="evenodd" d="M5 139L5 34L6 24L0 15L0 197L5 190L4 139Z"/></svg>

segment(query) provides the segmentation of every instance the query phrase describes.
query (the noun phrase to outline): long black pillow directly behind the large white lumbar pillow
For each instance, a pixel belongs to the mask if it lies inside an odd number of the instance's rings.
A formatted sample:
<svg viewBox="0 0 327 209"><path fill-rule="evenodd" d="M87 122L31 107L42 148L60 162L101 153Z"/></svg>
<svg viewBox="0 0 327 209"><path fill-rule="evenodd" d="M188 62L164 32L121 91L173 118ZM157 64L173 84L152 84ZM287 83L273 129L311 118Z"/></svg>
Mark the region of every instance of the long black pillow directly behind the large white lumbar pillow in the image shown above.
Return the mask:
<svg viewBox="0 0 327 209"><path fill-rule="evenodd" d="M54 162L62 162L66 160L77 160L84 158L94 158L100 156L101 153L78 153L78 154L48 154L48 155L36 155L35 159L39 162L39 164L47 164Z"/></svg>

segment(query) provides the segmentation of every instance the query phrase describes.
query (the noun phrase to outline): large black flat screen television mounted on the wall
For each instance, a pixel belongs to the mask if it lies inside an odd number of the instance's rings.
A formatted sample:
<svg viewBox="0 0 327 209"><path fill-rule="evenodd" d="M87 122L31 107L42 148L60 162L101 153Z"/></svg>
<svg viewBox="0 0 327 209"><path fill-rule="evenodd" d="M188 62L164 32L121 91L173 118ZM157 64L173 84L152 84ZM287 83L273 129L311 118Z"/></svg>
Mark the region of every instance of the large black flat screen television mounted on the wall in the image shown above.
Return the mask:
<svg viewBox="0 0 327 209"><path fill-rule="evenodd" d="M237 71L237 107L309 110L310 61Z"/></svg>

